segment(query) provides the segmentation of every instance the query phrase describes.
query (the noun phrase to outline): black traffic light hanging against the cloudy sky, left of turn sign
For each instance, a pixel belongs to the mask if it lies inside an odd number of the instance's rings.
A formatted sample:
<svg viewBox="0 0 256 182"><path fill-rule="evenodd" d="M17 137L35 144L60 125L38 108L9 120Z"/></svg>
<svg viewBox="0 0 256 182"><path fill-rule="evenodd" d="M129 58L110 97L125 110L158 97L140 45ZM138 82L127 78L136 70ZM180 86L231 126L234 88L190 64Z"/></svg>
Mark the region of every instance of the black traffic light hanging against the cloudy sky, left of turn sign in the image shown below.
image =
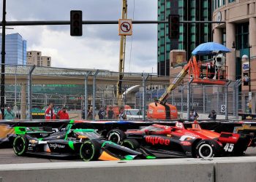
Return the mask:
<svg viewBox="0 0 256 182"><path fill-rule="evenodd" d="M83 35L82 11L70 11L70 36Z"/></svg>

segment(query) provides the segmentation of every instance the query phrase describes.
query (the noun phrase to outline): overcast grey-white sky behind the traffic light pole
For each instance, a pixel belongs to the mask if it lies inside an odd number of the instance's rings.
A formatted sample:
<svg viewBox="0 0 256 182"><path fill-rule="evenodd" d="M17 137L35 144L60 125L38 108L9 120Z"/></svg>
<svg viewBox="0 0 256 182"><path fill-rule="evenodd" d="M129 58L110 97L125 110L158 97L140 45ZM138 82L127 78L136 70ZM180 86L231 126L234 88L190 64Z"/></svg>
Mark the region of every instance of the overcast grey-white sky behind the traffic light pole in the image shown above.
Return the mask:
<svg viewBox="0 0 256 182"><path fill-rule="evenodd" d="M157 20L157 0L127 0L128 18ZM8 20L69 20L70 10L82 10L83 20L118 20L122 0L8 0ZM1 1L2 9L2 1ZM1 18L2 18L2 12ZM118 25L83 25L83 36L70 36L69 25L16 26L27 50L42 51L52 66L118 71ZM157 25L133 25L127 36L125 72L157 72Z"/></svg>

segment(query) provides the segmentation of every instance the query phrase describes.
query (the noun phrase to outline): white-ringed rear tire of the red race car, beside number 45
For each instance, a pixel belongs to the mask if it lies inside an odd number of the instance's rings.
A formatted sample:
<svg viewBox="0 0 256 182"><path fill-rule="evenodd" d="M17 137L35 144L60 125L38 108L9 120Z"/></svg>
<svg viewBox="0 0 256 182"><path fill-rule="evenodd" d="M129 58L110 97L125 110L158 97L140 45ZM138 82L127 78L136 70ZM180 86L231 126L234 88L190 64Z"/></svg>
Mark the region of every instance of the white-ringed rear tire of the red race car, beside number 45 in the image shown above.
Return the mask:
<svg viewBox="0 0 256 182"><path fill-rule="evenodd" d="M221 148L216 141L202 140L195 146L196 158L219 157Z"/></svg>

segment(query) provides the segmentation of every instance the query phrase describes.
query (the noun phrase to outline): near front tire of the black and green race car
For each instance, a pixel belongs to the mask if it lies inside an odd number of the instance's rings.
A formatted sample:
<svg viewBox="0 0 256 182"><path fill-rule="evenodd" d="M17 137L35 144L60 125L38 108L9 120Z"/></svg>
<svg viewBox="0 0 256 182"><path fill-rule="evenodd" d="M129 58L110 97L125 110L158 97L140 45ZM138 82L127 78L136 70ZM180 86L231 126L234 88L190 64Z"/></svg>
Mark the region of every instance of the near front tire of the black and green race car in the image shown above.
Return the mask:
<svg viewBox="0 0 256 182"><path fill-rule="evenodd" d="M93 161L99 158L101 146L96 141L85 141L80 146L80 158L83 161Z"/></svg>

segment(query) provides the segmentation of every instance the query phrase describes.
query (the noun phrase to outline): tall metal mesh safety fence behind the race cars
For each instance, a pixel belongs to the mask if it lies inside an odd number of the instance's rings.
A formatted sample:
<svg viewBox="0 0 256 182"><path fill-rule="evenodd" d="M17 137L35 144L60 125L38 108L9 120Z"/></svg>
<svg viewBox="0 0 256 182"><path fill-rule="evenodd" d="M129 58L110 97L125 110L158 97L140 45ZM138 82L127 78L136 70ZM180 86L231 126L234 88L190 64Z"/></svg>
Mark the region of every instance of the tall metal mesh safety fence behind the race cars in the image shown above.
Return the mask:
<svg viewBox="0 0 256 182"><path fill-rule="evenodd" d="M45 119L49 103L54 104L55 113L67 106L73 119L87 119L86 112L92 107L94 119L98 119L101 106L106 109L117 104L117 72L6 65L5 74L5 103L13 107L18 119ZM160 98L174 78L124 73L122 105L139 109L143 115L140 120L147 119L148 103ZM199 119L206 119L212 110L219 116L225 116L226 111L229 117L237 118L240 112L248 111L248 93L240 92L240 86L241 81L221 86L189 84L189 79L184 79L169 95L167 103L176 106L183 119L187 119L192 108L205 115Z"/></svg>

